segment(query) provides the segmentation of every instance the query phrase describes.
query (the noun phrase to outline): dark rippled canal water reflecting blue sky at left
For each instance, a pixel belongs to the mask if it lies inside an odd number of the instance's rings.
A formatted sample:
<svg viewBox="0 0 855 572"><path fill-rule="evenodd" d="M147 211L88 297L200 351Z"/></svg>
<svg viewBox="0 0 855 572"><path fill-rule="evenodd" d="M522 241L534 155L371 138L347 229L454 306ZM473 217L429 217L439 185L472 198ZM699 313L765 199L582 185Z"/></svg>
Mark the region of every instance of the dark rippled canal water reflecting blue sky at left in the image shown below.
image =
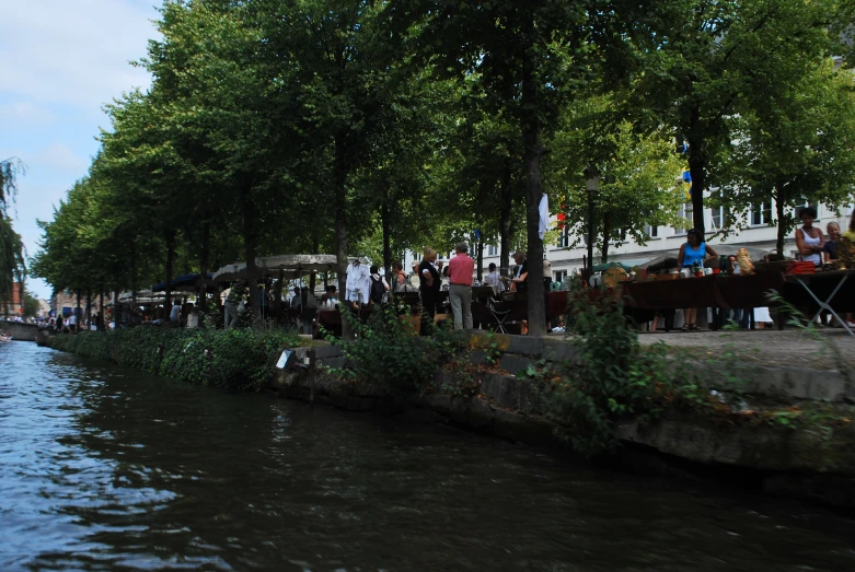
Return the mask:
<svg viewBox="0 0 855 572"><path fill-rule="evenodd" d="M855 523L0 346L0 570L850 571Z"/></svg>

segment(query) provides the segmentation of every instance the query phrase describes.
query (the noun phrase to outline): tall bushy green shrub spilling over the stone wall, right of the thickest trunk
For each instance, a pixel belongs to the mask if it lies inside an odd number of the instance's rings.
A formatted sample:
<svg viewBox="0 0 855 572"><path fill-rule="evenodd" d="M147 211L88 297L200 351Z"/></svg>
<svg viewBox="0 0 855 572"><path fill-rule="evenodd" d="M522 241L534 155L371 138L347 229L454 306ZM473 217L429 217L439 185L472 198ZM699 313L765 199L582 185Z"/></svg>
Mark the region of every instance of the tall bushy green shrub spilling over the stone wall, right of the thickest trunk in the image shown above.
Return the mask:
<svg viewBox="0 0 855 572"><path fill-rule="evenodd" d="M550 394L558 436L581 453L594 454L616 442L620 416L655 417L679 390L666 361L666 347L644 348L627 327L623 304L613 296L591 301L571 295L573 332L579 351L564 365Z"/></svg>

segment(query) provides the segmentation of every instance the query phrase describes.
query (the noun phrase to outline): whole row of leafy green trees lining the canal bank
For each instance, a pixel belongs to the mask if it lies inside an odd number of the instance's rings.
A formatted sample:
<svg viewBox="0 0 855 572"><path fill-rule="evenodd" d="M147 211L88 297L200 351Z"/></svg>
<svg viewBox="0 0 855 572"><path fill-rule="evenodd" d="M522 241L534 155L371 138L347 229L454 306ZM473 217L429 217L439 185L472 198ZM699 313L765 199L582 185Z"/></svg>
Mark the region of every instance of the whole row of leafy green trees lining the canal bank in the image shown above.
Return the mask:
<svg viewBox="0 0 855 572"><path fill-rule="evenodd" d="M788 231L793 205L852 199L850 8L165 2L138 62L151 87L107 105L33 271L83 295L165 278L170 304L176 273L246 260L252 282L256 256L286 252L335 253L339 292L353 254L389 268L404 249L477 237L507 269L512 250L540 260L556 238L539 234L544 192L552 214L568 211L566 243L593 217L603 261L610 242L681 212L703 233L709 200L727 232L774 197L767 219ZM683 168L691 198L674 186ZM726 191L705 198L712 187ZM529 272L542 335L542 268Z"/></svg>

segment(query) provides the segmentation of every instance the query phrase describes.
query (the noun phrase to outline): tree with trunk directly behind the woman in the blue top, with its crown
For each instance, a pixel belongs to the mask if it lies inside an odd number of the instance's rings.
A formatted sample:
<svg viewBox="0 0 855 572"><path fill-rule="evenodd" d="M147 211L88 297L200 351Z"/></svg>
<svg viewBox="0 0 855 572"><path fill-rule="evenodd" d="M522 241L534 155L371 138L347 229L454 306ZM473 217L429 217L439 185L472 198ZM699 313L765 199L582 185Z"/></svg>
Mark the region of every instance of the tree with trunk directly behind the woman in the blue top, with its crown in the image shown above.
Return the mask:
<svg viewBox="0 0 855 572"><path fill-rule="evenodd" d="M657 112L647 119L688 143L695 229L704 232L708 174L729 150L733 119L831 55L837 8L834 0L686 0L646 10L636 108Z"/></svg>

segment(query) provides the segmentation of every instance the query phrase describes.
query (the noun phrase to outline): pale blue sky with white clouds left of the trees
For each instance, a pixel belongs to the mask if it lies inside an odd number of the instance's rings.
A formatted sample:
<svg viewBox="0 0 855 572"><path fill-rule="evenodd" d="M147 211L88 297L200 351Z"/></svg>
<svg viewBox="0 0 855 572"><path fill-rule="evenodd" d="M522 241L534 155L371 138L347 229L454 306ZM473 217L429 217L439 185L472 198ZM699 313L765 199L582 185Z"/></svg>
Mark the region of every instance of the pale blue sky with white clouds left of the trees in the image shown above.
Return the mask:
<svg viewBox="0 0 855 572"><path fill-rule="evenodd" d="M27 0L3 2L0 17L0 160L26 165L12 215L30 256L54 208L86 175L108 129L103 106L148 72L130 65L158 37L155 0ZM50 287L31 278L47 299Z"/></svg>

